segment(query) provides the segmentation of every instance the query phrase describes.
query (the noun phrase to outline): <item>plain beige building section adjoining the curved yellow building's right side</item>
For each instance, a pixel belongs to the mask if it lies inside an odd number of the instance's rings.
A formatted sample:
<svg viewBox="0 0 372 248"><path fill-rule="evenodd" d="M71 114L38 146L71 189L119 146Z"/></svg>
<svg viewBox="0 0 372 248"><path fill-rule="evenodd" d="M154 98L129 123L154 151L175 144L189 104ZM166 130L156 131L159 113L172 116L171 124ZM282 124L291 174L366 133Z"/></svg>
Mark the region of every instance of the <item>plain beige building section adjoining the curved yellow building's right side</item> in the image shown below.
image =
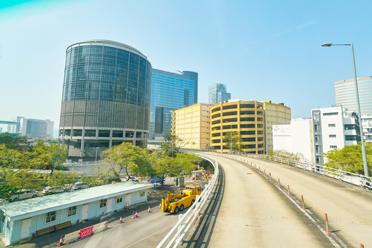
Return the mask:
<svg viewBox="0 0 372 248"><path fill-rule="evenodd" d="M273 152L273 125L291 124L291 108L284 103L263 103L265 110L265 151Z"/></svg>

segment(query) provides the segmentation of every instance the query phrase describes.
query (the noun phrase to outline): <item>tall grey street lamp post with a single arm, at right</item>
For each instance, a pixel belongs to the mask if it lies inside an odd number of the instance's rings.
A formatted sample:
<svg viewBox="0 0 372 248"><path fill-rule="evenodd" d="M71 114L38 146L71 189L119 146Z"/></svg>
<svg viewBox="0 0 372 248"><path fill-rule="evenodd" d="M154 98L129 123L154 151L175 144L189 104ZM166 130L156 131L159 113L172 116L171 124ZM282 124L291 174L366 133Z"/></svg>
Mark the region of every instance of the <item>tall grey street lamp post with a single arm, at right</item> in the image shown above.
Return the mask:
<svg viewBox="0 0 372 248"><path fill-rule="evenodd" d="M350 45L350 47L351 47L351 57L353 58L353 70L354 70L355 97L357 99L358 115L359 115L360 141L362 143L362 158L363 158L364 176L369 177L368 163L367 163L367 160L366 160L366 147L364 147L363 127L362 127L362 114L360 114L358 82L357 82L356 70L355 70L355 59L354 59L353 43L350 43L350 44L323 43L322 44L322 47L330 47L331 45Z"/></svg>

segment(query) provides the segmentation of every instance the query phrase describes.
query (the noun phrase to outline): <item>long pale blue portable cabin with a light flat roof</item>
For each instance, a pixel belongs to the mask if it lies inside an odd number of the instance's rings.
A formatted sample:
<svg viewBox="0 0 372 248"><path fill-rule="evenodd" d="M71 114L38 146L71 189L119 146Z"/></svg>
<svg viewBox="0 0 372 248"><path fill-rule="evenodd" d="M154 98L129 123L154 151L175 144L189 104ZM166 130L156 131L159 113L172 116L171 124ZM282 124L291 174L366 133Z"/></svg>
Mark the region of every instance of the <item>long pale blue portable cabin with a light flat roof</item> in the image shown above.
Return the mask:
<svg viewBox="0 0 372 248"><path fill-rule="evenodd" d="M5 245L75 225L78 220L147 202L147 183L123 182L20 200L0 206Z"/></svg>

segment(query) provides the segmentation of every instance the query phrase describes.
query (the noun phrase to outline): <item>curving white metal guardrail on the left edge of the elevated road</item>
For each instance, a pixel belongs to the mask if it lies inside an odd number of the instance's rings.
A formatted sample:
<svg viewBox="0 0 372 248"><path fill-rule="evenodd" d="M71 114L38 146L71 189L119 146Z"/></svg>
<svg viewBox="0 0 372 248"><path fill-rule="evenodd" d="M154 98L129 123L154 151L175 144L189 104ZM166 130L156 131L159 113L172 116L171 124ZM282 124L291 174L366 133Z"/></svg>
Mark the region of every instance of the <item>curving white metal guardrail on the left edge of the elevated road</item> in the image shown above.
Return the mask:
<svg viewBox="0 0 372 248"><path fill-rule="evenodd" d="M178 216L178 222L172 230L169 231L167 236L161 240L161 242L158 244L156 248L161 247L176 247L182 240L183 236L187 233L187 230L192 225L196 217L198 216L200 209L205 204L207 198L209 197L209 194L211 194L211 190L213 189L216 180L218 178L218 162L215 158L211 156L207 156L205 154L198 154L200 157L205 158L207 161L211 162L212 165L214 165L214 175L212 176L211 180L209 180L209 183L207 187L203 190L202 194L200 196L196 196L196 202L189 207L187 212L185 214L180 214ZM167 245L166 245L167 244Z"/></svg>

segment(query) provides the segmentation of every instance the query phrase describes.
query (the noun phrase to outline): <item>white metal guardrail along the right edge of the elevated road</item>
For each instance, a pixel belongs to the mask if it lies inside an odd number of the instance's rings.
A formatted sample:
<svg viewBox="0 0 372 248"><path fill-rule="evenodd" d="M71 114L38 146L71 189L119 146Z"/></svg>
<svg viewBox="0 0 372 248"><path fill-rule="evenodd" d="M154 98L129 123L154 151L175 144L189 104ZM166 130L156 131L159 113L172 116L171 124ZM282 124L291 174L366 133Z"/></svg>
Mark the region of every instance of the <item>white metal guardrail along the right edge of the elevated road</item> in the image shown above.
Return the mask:
<svg viewBox="0 0 372 248"><path fill-rule="evenodd" d="M220 154L218 152L209 152L212 154ZM361 187L366 187L369 189L372 189L372 177L367 177L363 176L360 174L355 174L351 172L346 172L341 169L333 169L331 167L326 167L323 165L316 165L316 164L311 164L311 163L304 163L300 161L296 161L293 159L288 159L288 158L282 158L279 156L270 156L270 155L265 155L265 154L246 154L245 152L233 152L234 155L240 155L240 156L247 156L247 157L252 157L252 158L260 158L260 159L265 159L267 161L274 161L286 165L291 165L294 167L298 167L301 169L306 169L310 172L314 172L317 174L322 174L324 176L329 176L338 180L342 180L347 183L351 183L353 185L358 185Z"/></svg>

